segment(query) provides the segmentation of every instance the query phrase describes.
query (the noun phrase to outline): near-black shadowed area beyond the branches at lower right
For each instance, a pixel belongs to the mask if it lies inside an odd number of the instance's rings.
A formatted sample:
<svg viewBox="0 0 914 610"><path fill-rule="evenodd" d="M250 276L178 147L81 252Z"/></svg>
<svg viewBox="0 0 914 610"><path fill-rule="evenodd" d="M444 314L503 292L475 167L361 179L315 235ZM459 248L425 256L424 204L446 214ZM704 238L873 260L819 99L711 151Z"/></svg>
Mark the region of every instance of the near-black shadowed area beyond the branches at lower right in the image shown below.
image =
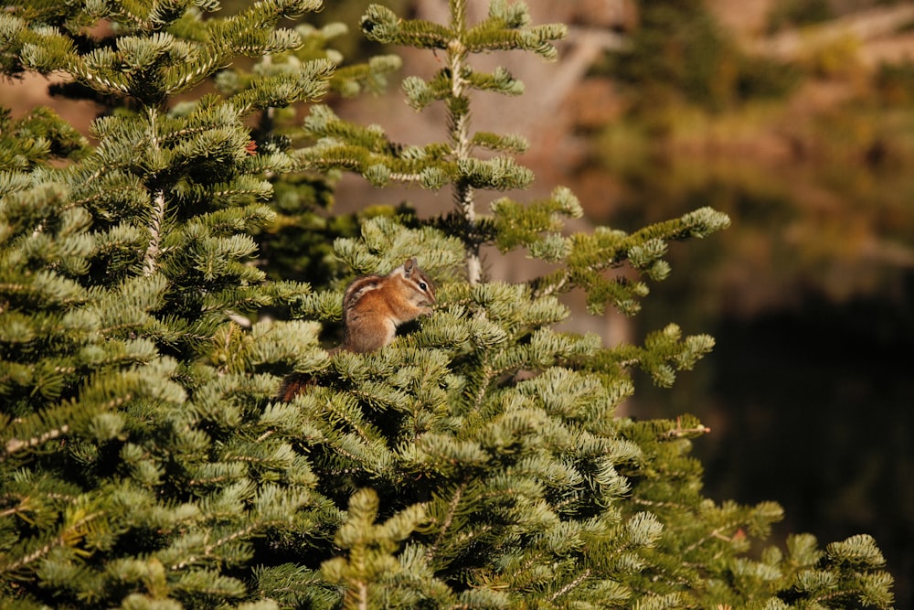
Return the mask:
<svg viewBox="0 0 914 610"><path fill-rule="evenodd" d="M914 293L914 277L905 292ZM699 365L713 369L707 387L678 401L712 428L696 442L708 495L781 503L779 543L789 532L823 545L872 534L896 578L897 606L914 607L910 298L808 298L751 319L722 317L712 333L717 348Z"/></svg>

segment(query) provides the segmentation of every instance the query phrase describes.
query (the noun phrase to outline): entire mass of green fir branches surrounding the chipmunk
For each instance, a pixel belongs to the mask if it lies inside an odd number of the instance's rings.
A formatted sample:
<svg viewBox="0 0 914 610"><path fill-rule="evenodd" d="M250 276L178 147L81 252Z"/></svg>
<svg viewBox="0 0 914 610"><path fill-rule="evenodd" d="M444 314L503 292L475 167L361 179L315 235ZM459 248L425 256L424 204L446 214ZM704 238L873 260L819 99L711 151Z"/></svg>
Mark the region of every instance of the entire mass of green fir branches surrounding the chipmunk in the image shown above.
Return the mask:
<svg viewBox="0 0 914 610"><path fill-rule="evenodd" d="M417 111L444 104L447 141L391 142L324 105L300 141L282 108L397 65L338 68L338 29L278 27L314 0L228 17L210 0L10 6L5 74L62 71L63 92L108 112L95 144L52 112L0 117L4 607L891 605L874 540L765 546L776 504L702 496L689 449L705 426L616 416L632 369L669 385L711 337L670 325L607 348L555 329L576 288L592 311L635 314L671 271L668 243L726 216L568 234L581 210L563 187L482 211L532 175L521 136L470 121L475 91L522 83L471 59L553 59L564 27L500 0L478 24L465 0L447 24L372 5L367 37L444 57L403 89ZM449 187L454 210L322 221L340 170ZM554 271L488 281L486 246ZM410 256L439 284L435 313L329 357L345 281ZM278 401L291 370L314 382Z"/></svg>

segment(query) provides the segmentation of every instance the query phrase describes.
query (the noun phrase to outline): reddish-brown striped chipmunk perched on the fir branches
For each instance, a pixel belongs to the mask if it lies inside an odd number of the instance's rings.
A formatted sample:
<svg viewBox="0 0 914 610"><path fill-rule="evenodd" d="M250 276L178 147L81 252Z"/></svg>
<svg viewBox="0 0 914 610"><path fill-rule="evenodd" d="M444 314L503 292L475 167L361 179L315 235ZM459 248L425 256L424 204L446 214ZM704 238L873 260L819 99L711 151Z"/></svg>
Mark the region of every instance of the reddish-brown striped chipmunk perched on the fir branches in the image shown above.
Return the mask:
<svg viewBox="0 0 914 610"><path fill-rule="evenodd" d="M365 275L346 286L343 294L343 343L329 350L364 353L393 341L397 326L431 313L435 286L409 259L387 275ZM292 374L282 383L280 398L292 401L312 382L310 375Z"/></svg>

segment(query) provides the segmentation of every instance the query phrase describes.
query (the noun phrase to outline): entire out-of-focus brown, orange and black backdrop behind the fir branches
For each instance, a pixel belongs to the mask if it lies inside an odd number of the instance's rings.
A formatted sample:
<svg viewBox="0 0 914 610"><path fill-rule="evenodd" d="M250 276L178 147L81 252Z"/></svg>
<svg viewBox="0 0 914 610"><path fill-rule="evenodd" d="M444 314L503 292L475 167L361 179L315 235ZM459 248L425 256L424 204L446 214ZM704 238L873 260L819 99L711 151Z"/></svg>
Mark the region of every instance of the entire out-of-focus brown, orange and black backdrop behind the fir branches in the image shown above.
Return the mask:
<svg viewBox="0 0 914 610"><path fill-rule="evenodd" d="M240 0L239 0L240 1ZM227 10L235 3L226 2ZM404 144L444 137L443 112L417 114L399 80L430 77L441 57L377 48L357 34L368 0L327 2L306 17L342 21L349 60L403 56L389 91L333 100ZM401 15L447 20L444 0L382 0ZM470 20L487 0L471 0ZM639 418L698 415L706 492L718 501L775 500L772 541L810 532L825 544L874 535L914 608L914 2L891 0L527 0L536 24L570 27L557 62L507 53L526 84L481 94L473 127L523 134L537 181L524 201L570 187L586 218L572 229L644 224L710 205L730 229L674 244L673 274L643 311L590 316L570 295L567 326L608 345L670 322L717 348L671 390L639 380L625 405ZM47 97L48 80L0 87L14 116L53 105L83 129L97 109ZM478 193L477 204L501 193ZM420 215L449 193L376 190L344 177L335 211L408 201ZM489 252L491 277L537 273Z"/></svg>

